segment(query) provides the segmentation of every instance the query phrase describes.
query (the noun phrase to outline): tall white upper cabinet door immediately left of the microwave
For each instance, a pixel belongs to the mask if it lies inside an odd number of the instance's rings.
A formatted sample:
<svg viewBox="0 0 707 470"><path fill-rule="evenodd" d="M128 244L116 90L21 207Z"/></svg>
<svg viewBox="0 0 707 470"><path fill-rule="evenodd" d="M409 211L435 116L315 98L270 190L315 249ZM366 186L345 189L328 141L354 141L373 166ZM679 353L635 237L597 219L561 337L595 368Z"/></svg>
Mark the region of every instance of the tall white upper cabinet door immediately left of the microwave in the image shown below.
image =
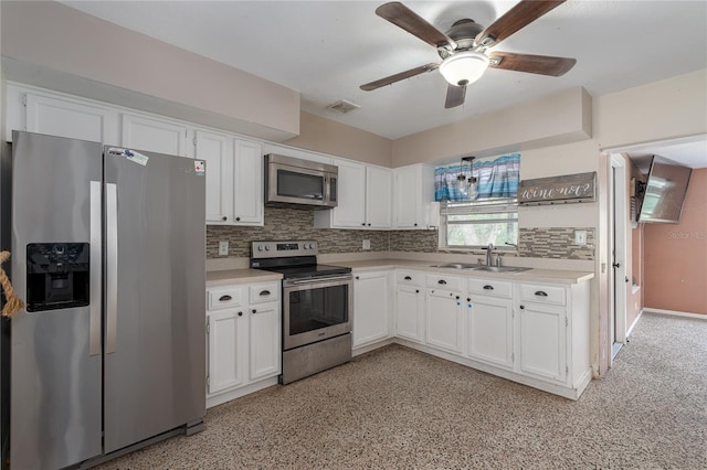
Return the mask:
<svg viewBox="0 0 707 470"><path fill-rule="evenodd" d="M233 143L233 220L236 225L263 225L263 157L261 146Z"/></svg>

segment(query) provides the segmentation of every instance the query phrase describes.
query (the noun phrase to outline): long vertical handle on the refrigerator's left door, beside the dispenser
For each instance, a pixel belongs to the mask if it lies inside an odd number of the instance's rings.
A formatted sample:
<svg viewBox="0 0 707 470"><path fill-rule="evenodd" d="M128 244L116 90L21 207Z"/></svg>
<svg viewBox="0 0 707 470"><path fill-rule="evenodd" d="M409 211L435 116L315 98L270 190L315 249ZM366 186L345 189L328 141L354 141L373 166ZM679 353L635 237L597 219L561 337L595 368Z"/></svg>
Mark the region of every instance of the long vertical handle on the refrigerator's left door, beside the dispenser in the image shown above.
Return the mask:
<svg viewBox="0 0 707 470"><path fill-rule="evenodd" d="M101 181L91 181L88 355L101 354Z"/></svg>

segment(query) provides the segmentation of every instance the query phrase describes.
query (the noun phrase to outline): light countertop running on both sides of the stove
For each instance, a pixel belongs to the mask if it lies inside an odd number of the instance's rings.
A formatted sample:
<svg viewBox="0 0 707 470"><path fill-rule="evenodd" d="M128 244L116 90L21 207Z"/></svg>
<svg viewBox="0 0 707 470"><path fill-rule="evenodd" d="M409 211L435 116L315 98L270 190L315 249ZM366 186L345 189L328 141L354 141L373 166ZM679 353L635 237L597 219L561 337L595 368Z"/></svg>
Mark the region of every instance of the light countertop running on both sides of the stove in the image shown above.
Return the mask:
<svg viewBox="0 0 707 470"><path fill-rule="evenodd" d="M444 261L442 261L444 263ZM442 264L437 263L437 264ZM469 269L435 268L431 265L435 263L419 259L366 259L366 260L339 260L339 266L350 267L354 273L387 269L415 269L430 273L444 274L447 276L464 276L488 279L505 279L523 282L551 282L551 284L579 284L594 277L591 271L566 270L566 269L530 269L520 273L488 273L474 271ZM207 287L223 286L229 284L261 282L267 280L281 280L283 277L277 273L261 269L229 269L207 273Z"/></svg>

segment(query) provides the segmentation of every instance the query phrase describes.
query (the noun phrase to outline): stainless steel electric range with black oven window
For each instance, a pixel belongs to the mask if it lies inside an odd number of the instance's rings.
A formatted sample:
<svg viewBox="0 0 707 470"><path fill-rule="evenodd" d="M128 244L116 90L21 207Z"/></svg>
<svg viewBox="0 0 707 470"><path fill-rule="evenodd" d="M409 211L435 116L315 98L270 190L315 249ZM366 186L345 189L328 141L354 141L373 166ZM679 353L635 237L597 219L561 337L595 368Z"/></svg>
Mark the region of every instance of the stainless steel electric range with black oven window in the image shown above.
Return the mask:
<svg viewBox="0 0 707 470"><path fill-rule="evenodd" d="M251 267L283 275L282 384L351 360L351 268L317 264L317 242L253 242Z"/></svg>

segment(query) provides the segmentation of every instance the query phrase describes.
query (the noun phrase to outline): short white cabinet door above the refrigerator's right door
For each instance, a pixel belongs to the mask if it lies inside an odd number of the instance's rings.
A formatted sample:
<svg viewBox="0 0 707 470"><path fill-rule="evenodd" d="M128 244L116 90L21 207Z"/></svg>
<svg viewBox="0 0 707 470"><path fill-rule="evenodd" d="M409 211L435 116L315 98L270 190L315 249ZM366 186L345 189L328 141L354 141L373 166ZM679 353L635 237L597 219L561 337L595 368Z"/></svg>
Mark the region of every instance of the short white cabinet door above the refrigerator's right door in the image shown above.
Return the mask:
<svg viewBox="0 0 707 470"><path fill-rule="evenodd" d="M130 149L187 157L187 131L175 121L123 115L123 146Z"/></svg>

